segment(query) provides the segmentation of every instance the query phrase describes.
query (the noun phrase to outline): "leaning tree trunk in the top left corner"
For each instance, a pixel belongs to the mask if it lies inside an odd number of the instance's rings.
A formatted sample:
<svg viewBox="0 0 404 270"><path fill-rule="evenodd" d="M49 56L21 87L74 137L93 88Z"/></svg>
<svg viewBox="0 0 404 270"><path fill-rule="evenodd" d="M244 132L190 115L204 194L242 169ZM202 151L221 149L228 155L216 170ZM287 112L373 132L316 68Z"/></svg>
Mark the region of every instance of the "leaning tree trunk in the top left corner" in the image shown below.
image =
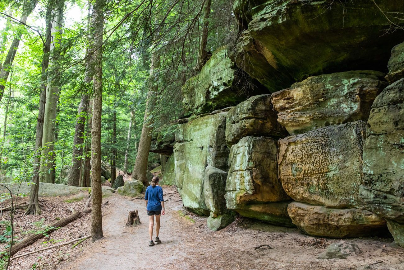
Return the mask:
<svg viewBox="0 0 404 270"><path fill-rule="evenodd" d="M29 14L35 9L38 0L24 0L23 11L21 14L21 23L26 23ZM6 82L8 74L10 73L11 65L13 64L15 53L17 52L18 45L20 44L21 36L23 31L18 31L14 35L13 42L11 43L10 49L8 50L6 59L4 60L1 72L0 72L0 102L2 100L4 89L6 88ZM45 37L47 38L47 37ZM46 40L45 40L46 43Z"/></svg>

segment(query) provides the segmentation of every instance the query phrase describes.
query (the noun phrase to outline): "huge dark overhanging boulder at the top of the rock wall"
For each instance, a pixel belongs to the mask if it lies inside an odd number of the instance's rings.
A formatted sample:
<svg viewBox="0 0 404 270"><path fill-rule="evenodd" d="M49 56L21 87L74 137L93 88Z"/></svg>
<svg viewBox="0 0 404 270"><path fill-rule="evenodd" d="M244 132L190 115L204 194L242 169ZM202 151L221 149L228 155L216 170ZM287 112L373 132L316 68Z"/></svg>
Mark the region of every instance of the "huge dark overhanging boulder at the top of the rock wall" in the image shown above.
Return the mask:
<svg viewBox="0 0 404 270"><path fill-rule="evenodd" d="M390 49L402 42L404 21L391 18L399 27L389 32L385 12L403 11L403 1L380 0L376 5L368 0L268 0L257 4L246 17L241 16L248 30L240 37L238 47L244 50L237 50L241 56L236 58L243 60L238 66L270 91L271 83L263 79L280 74L302 81L345 70L383 71Z"/></svg>

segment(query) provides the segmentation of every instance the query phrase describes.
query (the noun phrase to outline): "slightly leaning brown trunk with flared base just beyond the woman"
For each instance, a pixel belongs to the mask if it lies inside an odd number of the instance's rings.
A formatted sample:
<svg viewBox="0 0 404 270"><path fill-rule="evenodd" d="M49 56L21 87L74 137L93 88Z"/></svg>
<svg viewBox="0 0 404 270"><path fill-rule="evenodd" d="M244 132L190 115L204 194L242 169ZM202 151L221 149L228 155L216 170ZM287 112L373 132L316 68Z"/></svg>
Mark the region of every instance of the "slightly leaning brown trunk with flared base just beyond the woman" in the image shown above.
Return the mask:
<svg viewBox="0 0 404 270"><path fill-rule="evenodd" d="M145 108L145 117L143 120L143 127L142 133L140 136L139 141L139 148L137 150L136 155L136 162L135 167L133 168L132 179L137 179L143 183L143 185L148 186L149 181L146 178L147 172L147 160L149 158L149 150L150 150L150 143L151 143L151 132L153 131L153 117L151 113L154 110L155 106L155 97L157 94L157 72L160 68L160 52L155 51L151 58L151 65L150 65L150 88L149 92L147 93L147 101L146 101L146 108Z"/></svg>

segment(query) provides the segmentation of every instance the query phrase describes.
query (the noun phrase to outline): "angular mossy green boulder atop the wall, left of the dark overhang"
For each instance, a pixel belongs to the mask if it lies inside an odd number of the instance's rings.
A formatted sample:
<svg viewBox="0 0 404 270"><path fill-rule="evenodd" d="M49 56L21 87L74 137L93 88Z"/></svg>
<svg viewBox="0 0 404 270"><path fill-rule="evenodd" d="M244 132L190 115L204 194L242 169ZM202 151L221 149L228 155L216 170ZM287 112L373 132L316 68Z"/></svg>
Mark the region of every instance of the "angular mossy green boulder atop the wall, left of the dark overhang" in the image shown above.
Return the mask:
<svg viewBox="0 0 404 270"><path fill-rule="evenodd" d="M217 49L202 70L182 87L187 110L200 113L235 105L252 93L266 91L239 70L227 55L226 47Z"/></svg>

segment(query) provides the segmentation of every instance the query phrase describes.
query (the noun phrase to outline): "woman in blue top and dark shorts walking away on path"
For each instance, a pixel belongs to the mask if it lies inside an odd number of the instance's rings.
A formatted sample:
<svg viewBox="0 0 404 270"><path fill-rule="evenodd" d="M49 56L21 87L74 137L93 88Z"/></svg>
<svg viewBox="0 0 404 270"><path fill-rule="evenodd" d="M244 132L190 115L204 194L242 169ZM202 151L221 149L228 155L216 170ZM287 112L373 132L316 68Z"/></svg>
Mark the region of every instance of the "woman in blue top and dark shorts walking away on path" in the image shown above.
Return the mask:
<svg viewBox="0 0 404 270"><path fill-rule="evenodd" d="M154 216L156 216L156 243L161 243L160 238L158 238L158 233L160 232L160 217L161 214L164 216L166 213L164 210L163 189L158 186L158 180L158 176L153 177L153 180L151 180L151 185L147 187L145 194L146 210L147 215L149 216L149 247L154 246Z"/></svg>

